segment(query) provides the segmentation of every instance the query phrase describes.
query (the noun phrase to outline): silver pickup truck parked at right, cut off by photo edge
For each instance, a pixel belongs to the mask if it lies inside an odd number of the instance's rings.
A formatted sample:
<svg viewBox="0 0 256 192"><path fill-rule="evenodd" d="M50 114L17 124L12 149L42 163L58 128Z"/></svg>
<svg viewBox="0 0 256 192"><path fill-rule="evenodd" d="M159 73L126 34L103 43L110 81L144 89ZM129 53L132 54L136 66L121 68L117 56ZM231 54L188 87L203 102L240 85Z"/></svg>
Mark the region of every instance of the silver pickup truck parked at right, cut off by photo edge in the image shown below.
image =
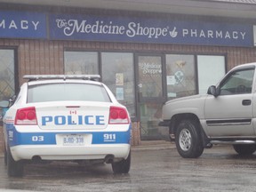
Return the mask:
<svg viewBox="0 0 256 192"><path fill-rule="evenodd" d="M241 156L256 150L256 63L231 69L207 94L169 100L161 126L168 126L180 156L196 158L212 144L231 144Z"/></svg>

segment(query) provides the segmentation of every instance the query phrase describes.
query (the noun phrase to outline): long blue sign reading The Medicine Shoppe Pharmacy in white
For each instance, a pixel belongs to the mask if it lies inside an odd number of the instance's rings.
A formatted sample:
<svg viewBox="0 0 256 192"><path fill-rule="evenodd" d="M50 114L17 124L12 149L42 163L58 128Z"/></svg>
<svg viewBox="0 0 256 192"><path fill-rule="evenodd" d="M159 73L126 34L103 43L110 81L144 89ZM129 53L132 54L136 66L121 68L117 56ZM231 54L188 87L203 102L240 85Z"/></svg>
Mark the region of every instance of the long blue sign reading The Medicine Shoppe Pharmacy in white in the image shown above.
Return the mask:
<svg viewBox="0 0 256 192"><path fill-rule="evenodd" d="M50 15L50 38L156 44L253 45L252 25L87 15Z"/></svg>

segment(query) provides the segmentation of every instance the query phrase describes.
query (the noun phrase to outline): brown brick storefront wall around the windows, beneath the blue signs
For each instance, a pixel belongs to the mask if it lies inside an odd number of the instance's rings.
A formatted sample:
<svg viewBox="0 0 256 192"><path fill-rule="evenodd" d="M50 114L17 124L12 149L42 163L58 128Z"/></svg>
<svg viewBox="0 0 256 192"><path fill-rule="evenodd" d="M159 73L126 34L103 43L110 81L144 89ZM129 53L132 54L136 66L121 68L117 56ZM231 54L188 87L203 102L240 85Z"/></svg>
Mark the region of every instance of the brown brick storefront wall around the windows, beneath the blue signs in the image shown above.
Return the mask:
<svg viewBox="0 0 256 192"><path fill-rule="evenodd" d="M82 41L45 41L0 39L0 48L16 48L18 55L18 71L20 84L22 76L29 74L63 74L64 51L116 51L116 52L148 52L148 53L189 53L189 54L223 54L227 57L228 70L236 65L256 61L254 48L195 46L172 44L122 44ZM0 127L0 133L2 128ZM2 135L2 134L1 134ZM3 147L3 137L0 137ZM132 123L132 145L140 144L140 124Z"/></svg>

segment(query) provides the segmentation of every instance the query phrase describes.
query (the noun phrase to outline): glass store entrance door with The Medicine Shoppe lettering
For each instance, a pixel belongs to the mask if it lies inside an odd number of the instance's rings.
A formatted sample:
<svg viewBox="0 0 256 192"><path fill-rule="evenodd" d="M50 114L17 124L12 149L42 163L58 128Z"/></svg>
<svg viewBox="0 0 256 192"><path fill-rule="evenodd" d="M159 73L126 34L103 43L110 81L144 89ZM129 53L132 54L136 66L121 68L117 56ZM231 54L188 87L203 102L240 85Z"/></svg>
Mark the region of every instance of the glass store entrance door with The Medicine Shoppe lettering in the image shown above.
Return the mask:
<svg viewBox="0 0 256 192"><path fill-rule="evenodd" d="M168 136L168 132L158 126L165 101L163 55L136 55L136 74L140 139L162 140Z"/></svg>

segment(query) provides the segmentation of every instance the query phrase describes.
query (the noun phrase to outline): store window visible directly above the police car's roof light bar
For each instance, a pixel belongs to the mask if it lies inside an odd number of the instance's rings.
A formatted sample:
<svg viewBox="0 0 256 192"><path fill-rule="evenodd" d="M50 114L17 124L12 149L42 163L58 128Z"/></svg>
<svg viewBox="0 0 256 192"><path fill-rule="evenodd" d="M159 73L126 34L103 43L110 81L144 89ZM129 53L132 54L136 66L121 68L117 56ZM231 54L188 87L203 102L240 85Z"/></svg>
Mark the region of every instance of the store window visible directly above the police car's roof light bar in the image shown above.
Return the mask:
<svg viewBox="0 0 256 192"><path fill-rule="evenodd" d="M64 52L65 74L99 74L98 52Z"/></svg>

